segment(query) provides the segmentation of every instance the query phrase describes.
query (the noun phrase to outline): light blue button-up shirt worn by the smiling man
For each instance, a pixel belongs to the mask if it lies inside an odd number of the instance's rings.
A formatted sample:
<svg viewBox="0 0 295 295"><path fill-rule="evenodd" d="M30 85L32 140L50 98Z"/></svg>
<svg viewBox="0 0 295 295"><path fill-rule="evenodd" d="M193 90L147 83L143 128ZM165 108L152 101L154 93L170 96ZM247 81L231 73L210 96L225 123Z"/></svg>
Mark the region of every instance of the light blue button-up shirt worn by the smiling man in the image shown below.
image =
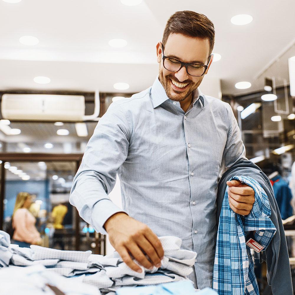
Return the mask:
<svg viewBox="0 0 295 295"><path fill-rule="evenodd" d="M70 203L98 232L122 211L109 199L116 174L123 209L157 236L173 235L197 253L190 278L212 286L219 173L245 158L229 104L194 91L184 112L156 78L113 102L99 120L73 180Z"/></svg>

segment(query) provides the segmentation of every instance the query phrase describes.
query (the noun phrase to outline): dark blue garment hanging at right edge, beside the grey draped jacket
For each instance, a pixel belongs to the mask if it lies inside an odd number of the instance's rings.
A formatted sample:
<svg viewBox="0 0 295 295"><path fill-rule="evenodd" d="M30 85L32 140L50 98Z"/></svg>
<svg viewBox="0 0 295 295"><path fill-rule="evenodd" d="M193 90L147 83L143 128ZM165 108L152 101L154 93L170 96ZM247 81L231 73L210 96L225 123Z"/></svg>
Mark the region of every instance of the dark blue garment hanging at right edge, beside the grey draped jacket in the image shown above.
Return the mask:
<svg viewBox="0 0 295 295"><path fill-rule="evenodd" d="M293 208L291 205L292 192L288 186L288 183L283 180L280 175L271 178L271 184L273 185L273 192L280 209L282 219L287 219L293 215Z"/></svg>

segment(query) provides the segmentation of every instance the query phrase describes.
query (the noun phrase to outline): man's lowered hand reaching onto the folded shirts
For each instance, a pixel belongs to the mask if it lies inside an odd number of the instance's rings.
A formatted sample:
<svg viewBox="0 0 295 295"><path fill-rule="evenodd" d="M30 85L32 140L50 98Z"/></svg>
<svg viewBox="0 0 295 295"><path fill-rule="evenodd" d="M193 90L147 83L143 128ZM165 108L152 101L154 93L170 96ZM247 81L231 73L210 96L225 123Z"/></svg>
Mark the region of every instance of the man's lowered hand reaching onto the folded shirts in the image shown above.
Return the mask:
<svg viewBox="0 0 295 295"><path fill-rule="evenodd" d="M119 212L107 219L104 228L109 234L112 246L131 269L142 272L141 268L133 262L131 255L145 268L152 269L153 265L161 266L164 250L158 237L146 224Z"/></svg>

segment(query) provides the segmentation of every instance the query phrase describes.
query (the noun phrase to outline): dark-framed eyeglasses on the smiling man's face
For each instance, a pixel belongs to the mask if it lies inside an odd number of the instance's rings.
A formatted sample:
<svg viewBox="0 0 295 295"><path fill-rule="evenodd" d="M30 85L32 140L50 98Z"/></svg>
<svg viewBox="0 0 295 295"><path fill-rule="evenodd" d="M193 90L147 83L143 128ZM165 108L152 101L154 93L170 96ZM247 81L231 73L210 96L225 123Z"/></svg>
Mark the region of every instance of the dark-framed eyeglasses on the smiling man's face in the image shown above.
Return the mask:
<svg viewBox="0 0 295 295"><path fill-rule="evenodd" d="M188 73L190 76L194 77L201 77L206 72L209 62L211 60L211 56L209 56L209 61L207 65L201 65L198 63L183 63L182 61L171 58L164 55L164 47L162 44L162 53L163 53L163 66L166 70L171 72L178 72L182 67L186 68L186 73Z"/></svg>

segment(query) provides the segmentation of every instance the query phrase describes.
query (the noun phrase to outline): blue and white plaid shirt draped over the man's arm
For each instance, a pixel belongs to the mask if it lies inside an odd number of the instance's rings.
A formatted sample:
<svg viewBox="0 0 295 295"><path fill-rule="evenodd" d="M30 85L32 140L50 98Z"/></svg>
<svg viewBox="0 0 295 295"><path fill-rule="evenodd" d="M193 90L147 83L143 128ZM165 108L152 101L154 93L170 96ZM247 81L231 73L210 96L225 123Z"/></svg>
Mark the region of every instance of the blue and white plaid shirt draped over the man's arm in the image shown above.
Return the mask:
<svg viewBox="0 0 295 295"><path fill-rule="evenodd" d="M230 208L227 189L225 191L217 232L213 289L219 295L259 295L254 263L245 237L255 231L254 240L266 249L276 227L270 219L268 197L260 184L247 176L234 176L230 180L239 180L252 187L255 202L250 214L241 216Z"/></svg>

